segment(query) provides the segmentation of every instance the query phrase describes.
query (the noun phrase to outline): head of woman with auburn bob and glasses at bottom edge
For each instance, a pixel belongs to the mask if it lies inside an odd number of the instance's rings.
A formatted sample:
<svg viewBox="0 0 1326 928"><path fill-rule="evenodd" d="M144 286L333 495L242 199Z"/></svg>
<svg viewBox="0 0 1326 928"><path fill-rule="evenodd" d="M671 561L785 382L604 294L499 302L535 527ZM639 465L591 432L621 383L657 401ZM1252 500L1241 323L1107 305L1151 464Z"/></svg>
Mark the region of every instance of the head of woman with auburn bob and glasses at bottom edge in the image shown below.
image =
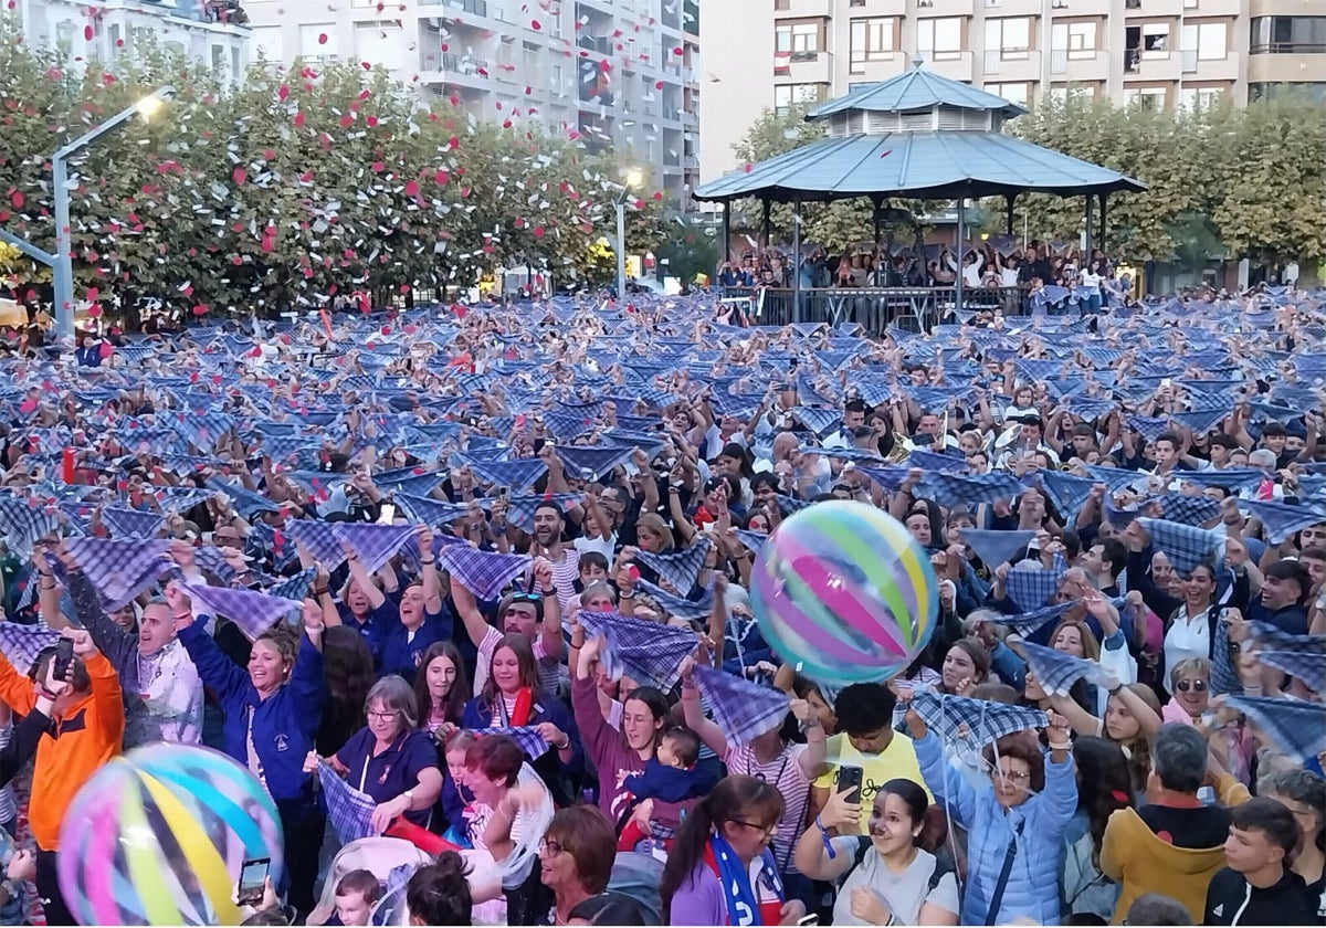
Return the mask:
<svg viewBox="0 0 1326 928"><path fill-rule="evenodd" d="M553 815L538 843L540 879L553 894L552 912L541 924L570 924L572 909L607 891L615 860L617 835L607 815L594 806Z"/></svg>

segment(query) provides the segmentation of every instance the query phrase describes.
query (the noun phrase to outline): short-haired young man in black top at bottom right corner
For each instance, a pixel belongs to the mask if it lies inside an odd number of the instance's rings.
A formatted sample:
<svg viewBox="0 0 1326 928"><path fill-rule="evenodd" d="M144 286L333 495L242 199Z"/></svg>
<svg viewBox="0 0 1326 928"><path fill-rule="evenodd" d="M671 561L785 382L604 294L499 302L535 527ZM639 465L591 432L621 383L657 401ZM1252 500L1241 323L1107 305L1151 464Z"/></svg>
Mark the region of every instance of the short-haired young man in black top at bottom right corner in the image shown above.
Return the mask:
<svg viewBox="0 0 1326 928"><path fill-rule="evenodd" d="M1207 887L1207 925L1306 925L1317 905L1303 878L1285 866L1298 846L1293 813L1257 797L1231 810L1225 868Z"/></svg>

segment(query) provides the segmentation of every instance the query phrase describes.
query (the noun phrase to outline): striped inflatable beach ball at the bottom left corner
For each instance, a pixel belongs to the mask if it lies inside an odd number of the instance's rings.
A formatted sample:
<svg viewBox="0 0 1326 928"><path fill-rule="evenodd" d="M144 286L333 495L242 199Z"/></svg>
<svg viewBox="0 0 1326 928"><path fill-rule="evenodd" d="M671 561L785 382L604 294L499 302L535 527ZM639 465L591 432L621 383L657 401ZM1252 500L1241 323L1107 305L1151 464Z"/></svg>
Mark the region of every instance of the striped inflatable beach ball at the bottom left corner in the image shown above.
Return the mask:
<svg viewBox="0 0 1326 928"><path fill-rule="evenodd" d="M84 783L60 826L60 890L85 925L237 925L240 867L271 858L281 819L263 785L220 752L154 744Z"/></svg>

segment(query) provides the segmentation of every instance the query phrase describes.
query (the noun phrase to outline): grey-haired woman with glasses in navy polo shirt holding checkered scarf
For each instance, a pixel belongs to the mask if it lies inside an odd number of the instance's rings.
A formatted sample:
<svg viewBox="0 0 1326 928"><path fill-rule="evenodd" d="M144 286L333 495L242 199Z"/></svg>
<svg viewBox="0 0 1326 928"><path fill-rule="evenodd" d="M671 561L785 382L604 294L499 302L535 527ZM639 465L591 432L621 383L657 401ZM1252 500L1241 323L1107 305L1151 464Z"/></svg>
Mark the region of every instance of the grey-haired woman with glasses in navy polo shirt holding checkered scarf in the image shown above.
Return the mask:
<svg viewBox="0 0 1326 928"><path fill-rule="evenodd" d="M414 689L399 676L382 677L369 691L365 716L369 724L328 758L332 769L378 803L375 831L400 817L427 829L442 794L442 770L432 738L419 730ZM317 762L309 752L304 769L312 773Z"/></svg>

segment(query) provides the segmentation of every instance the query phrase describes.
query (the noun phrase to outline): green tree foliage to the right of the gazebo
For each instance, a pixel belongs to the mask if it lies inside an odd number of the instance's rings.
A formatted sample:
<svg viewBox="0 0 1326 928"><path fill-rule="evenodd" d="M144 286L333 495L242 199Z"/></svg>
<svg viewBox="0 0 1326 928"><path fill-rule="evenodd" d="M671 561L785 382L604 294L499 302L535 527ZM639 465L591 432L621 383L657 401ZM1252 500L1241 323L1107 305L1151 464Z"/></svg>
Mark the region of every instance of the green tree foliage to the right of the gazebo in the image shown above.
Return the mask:
<svg viewBox="0 0 1326 928"><path fill-rule="evenodd" d="M1148 186L1110 196L1111 253L1185 265L1225 252L1326 257L1321 107L1276 99L1170 113L1070 94L1044 101L1009 131ZM1077 240L1082 215L1081 199L1025 195L1016 228L1025 223L1032 237Z"/></svg>

